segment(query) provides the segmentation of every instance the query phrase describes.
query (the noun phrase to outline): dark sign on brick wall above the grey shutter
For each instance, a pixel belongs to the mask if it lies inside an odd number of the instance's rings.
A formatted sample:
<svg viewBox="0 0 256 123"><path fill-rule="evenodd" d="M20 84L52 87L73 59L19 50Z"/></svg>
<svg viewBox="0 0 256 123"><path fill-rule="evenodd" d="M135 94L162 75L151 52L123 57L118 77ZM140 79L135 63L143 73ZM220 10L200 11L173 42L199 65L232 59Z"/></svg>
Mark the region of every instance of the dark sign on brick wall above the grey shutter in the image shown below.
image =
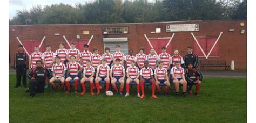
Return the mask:
<svg viewBox="0 0 256 123"><path fill-rule="evenodd" d="M129 27L102 27L102 34L128 34Z"/></svg>

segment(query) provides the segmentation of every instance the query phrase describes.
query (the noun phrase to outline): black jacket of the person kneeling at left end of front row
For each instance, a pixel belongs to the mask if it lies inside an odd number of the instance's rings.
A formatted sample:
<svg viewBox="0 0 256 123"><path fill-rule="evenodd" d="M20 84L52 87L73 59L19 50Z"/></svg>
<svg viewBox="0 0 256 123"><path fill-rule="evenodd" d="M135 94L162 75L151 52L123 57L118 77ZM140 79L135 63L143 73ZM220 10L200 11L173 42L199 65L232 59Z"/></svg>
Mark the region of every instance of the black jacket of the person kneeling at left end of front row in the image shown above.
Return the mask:
<svg viewBox="0 0 256 123"><path fill-rule="evenodd" d="M40 67L40 68L33 68L28 73L28 78L35 78L38 82L44 83L46 77L50 78L51 73L48 69Z"/></svg>

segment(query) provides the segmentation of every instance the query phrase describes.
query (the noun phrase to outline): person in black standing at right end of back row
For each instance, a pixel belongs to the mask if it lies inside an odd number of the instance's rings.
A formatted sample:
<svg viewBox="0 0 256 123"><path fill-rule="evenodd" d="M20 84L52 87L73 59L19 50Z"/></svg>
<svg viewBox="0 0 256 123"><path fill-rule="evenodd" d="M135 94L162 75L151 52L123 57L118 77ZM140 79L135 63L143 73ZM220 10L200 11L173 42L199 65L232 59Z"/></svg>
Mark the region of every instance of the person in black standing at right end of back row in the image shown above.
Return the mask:
<svg viewBox="0 0 256 123"><path fill-rule="evenodd" d="M196 53L193 52L193 47L187 47L187 54L184 56L185 68L187 68L188 63L193 64L193 68L197 68L199 65L199 58Z"/></svg>

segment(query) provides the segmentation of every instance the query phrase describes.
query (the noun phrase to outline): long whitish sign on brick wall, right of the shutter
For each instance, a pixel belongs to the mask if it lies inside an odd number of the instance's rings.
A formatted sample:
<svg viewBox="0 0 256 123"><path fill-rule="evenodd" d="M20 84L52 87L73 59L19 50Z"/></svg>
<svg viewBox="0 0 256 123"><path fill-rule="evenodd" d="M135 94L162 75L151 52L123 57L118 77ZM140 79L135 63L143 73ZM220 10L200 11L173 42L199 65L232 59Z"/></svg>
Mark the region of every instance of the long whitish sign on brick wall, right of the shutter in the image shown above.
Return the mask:
<svg viewBox="0 0 256 123"><path fill-rule="evenodd" d="M166 32L187 32L199 31L199 24L169 24L166 25Z"/></svg>

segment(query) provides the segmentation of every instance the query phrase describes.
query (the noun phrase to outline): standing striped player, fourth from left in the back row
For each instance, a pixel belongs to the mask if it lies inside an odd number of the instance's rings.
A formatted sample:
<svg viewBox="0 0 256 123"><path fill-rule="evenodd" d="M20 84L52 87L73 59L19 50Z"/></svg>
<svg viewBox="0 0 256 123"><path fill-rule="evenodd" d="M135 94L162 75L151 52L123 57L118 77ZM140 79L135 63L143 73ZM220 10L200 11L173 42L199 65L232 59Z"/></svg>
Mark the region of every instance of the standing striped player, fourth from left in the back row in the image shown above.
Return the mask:
<svg viewBox="0 0 256 123"><path fill-rule="evenodd" d="M69 62L71 62L71 55L75 56L75 62L78 62L80 59L80 51L79 49L76 49L76 43L72 42L70 44L71 48L68 49L68 51L66 52L66 60L68 60Z"/></svg>

